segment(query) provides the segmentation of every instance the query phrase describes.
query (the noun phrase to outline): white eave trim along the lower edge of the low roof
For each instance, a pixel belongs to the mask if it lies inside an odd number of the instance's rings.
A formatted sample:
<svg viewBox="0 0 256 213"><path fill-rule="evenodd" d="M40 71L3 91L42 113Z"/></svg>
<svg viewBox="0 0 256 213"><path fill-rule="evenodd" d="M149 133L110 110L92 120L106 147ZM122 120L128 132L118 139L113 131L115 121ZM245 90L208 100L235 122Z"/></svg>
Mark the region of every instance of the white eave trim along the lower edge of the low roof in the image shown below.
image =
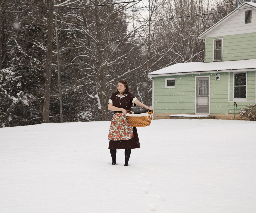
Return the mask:
<svg viewBox="0 0 256 213"><path fill-rule="evenodd" d="M213 63L213 62L209 62ZM218 62L214 62L218 63ZM166 73L166 74L155 74L148 75L148 77L162 77L162 76L172 76L172 75L187 75L187 74L204 74L204 73L216 73L216 72L247 72L247 71L255 71L255 68L251 69L238 69L238 70L214 70L214 71L199 71L199 72L182 72L182 73Z"/></svg>

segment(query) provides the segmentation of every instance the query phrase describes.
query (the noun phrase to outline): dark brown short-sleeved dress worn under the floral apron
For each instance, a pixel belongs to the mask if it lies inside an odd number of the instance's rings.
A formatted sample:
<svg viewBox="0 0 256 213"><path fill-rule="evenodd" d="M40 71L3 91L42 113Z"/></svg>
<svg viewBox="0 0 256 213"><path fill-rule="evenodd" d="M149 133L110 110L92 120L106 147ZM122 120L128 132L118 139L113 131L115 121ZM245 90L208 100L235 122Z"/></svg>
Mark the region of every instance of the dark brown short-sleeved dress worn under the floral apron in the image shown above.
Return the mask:
<svg viewBox="0 0 256 213"><path fill-rule="evenodd" d="M120 98L120 95L117 96L115 93L110 98L110 102L112 101L113 106L118 108L124 108L126 110L131 110L132 108L132 101L135 98L135 96L131 93L127 93L126 96L122 96ZM136 106L136 104L134 104ZM122 113L122 111L114 111L114 114ZM115 115L113 115L114 120ZM109 140L109 149L136 149L140 148L140 141L138 138L138 133L136 127L133 128L133 137L129 140Z"/></svg>

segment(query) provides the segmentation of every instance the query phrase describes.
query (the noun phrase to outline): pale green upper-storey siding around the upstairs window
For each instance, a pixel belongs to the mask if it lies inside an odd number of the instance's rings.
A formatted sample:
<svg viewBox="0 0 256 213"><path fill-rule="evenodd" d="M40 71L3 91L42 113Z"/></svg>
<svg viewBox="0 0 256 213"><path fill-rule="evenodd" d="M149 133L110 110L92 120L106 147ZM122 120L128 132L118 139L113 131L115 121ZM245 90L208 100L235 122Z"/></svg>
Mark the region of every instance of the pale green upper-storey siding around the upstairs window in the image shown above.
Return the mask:
<svg viewBox="0 0 256 213"><path fill-rule="evenodd" d="M213 40L223 38L222 61L256 59L256 32L206 38L205 62L213 61Z"/></svg>

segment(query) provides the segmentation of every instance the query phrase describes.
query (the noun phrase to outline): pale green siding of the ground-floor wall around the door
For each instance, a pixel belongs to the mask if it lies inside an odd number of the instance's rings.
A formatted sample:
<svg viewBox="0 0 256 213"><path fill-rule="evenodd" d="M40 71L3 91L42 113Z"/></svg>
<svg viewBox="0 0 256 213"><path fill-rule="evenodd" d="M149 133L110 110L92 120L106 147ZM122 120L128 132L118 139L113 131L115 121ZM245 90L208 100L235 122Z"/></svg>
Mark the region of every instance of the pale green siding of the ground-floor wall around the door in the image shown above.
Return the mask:
<svg viewBox="0 0 256 213"><path fill-rule="evenodd" d="M220 74L220 80L215 80ZM203 73L153 77L155 113L195 113L195 76L210 76L210 114L234 113L233 73ZM165 79L175 78L175 88L165 88ZM255 71L247 72L247 100L255 100ZM228 86L230 93L228 94ZM228 100L229 97L229 100ZM237 102L237 110L255 102ZM238 113L238 111L237 111Z"/></svg>

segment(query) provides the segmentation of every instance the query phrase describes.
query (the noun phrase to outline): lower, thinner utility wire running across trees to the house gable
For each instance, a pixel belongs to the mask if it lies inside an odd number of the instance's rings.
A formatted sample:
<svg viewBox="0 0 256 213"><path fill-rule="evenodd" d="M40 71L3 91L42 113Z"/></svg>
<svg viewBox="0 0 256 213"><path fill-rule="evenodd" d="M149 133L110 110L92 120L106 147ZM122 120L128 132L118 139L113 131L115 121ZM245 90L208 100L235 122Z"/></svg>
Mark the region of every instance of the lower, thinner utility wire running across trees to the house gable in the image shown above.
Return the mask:
<svg viewBox="0 0 256 213"><path fill-rule="evenodd" d="M253 8L248 7L248 8ZM246 9L248 9L246 8ZM245 9L245 8L242 8ZM242 10L242 9L235 9L235 10ZM205 16L205 15L211 15L211 14L217 14L217 13L225 13L225 12L232 12L235 10L226 10L222 12L215 12L215 13L206 13L206 14L199 14L199 15L191 15L191 16L181 16L181 17L173 17L173 18L161 18L161 19L154 19L152 21L161 21L161 20L170 20L170 19L178 19L178 18L188 18L188 17L195 17L195 16ZM125 22L117 22L117 23L105 23L105 24L87 24L87 25L52 25L52 27L79 27L79 26L94 26L94 25L112 25L112 24L129 24L129 23L137 23L137 22L147 22L149 20L140 20L140 21L125 21ZM12 25L0 25L1 27L13 27ZM31 27L41 27L48 25L30 25Z"/></svg>

